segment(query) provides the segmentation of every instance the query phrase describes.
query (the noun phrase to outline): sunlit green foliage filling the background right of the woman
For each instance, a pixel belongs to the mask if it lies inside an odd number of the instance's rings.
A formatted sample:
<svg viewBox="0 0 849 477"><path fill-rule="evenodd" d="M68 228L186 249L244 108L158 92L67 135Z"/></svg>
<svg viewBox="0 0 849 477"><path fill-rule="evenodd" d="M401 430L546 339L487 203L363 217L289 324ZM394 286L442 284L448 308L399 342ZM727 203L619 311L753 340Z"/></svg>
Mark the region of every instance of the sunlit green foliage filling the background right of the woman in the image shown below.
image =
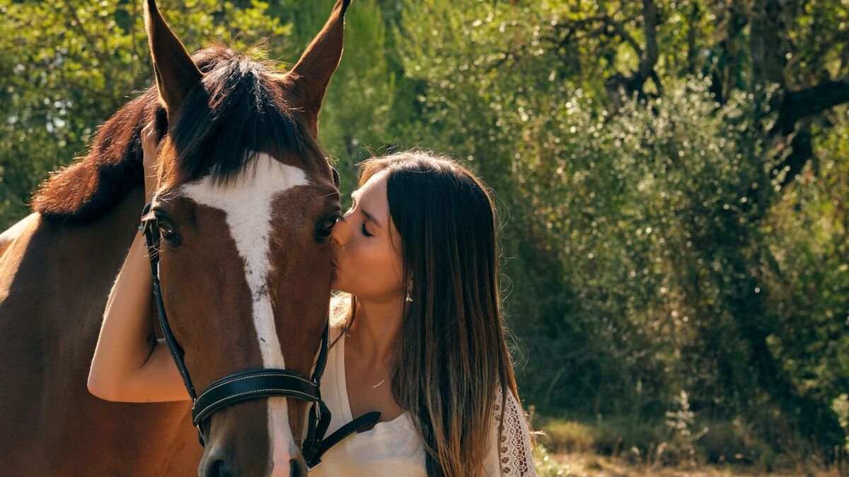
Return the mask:
<svg viewBox="0 0 849 477"><path fill-rule="evenodd" d="M572 31L634 8L614 5L405 3L399 49L421 114L402 137L464 160L509 210L505 295L526 346L521 387L545 412L655 420L686 389L690 412L747 416L776 450L791 451L788 433L828 449L845 439L829 403L849 376L847 193L829 173L845 162L845 115L812 126L813 164L833 158L828 171L784 187L772 173L789 157L775 149L779 92L747 91L753 77L719 84L718 67L698 58L681 68L681 28L656 32L669 52L656 65L662 88L610 95L602 80L640 58L610 49L613 26ZM706 5L661 6L712 33L687 14ZM818 199L784 210L796 190ZM812 294L825 300L812 306ZM794 296L792 310L778 307Z"/></svg>

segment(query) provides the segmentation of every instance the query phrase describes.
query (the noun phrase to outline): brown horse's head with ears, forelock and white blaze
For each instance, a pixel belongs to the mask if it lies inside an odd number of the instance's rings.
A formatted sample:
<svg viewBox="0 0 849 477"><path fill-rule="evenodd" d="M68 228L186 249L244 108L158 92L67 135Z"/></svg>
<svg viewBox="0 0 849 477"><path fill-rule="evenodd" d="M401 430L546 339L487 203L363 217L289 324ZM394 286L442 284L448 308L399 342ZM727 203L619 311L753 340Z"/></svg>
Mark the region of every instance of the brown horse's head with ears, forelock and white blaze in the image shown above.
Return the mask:
<svg viewBox="0 0 849 477"><path fill-rule="evenodd" d="M162 296L199 391L257 368L310 374L340 215L338 178L316 143L318 109L339 64L348 3L336 3L281 74L222 46L189 56L147 2L168 127L151 208ZM306 474L305 415L306 402L284 397L215 412L200 475Z"/></svg>

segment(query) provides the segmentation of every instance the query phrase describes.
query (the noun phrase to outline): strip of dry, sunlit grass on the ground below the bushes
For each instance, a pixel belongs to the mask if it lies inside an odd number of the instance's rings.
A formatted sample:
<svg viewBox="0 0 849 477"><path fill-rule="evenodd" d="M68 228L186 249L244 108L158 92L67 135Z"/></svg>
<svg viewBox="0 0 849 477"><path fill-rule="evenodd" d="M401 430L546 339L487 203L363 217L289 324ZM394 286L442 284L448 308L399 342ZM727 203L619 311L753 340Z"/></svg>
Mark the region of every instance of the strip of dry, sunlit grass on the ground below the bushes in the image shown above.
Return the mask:
<svg viewBox="0 0 849 477"><path fill-rule="evenodd" d="M745 424L714 422L676 427L634 419L581 422L537 419L537 473L541 476L824 476L849 475L846 460L788 449L775 452ZM696 431L698 429L698 431ZM845 453L838 453L845 458Z"/></svg>

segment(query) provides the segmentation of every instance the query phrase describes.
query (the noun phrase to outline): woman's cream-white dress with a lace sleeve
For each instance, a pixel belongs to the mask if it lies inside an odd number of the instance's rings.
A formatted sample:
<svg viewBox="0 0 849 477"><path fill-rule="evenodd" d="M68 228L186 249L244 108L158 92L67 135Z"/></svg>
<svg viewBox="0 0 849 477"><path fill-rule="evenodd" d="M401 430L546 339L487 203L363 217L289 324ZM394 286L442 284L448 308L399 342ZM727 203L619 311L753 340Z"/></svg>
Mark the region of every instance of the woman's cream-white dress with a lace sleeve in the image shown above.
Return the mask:
<svg viewBox="0 0 849 477"><path fill-rule="evenodd" d="M330 342L339 332L331 332ZM345 336L328 350L327 367L321 379L321 394L331 412L326 435L351 422L351 407L345 381ZM498 435L501 418L501 392L495 400L492 435ZM531 441L522 409L509 393L504 412L500 445L492 440L486 456L486 475L536 475L531 457ZM331 447L310 477L336 476L425 476L424 448L408 412L391 421L374 424L372 429L355 432Z"/></svg>

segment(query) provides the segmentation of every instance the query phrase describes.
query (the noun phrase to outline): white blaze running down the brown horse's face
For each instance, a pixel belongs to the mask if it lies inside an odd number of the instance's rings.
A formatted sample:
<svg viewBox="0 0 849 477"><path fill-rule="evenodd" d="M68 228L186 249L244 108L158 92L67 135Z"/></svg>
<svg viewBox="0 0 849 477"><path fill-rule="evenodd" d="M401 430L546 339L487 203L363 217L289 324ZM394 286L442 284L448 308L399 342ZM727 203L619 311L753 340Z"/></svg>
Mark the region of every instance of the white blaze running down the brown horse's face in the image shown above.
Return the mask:
<svg viewBox="0 0 849 477"><path fill-rule="evenodd" d="M260 153L254 160L256 173L248 166L235 181L214 185L209 177L182 186L183 195L198 204L223 210L227 214L230 235L245 260L245 279L250 287L253 322L259 339L262 366L284 368L274 314L267 293L270 263L269 233L272 204L279 194L309 183L303 170ZM289 472L290 457L299 452L289 427L286 398L270 397L268 402L268 438L274 469Z"/></svg>

